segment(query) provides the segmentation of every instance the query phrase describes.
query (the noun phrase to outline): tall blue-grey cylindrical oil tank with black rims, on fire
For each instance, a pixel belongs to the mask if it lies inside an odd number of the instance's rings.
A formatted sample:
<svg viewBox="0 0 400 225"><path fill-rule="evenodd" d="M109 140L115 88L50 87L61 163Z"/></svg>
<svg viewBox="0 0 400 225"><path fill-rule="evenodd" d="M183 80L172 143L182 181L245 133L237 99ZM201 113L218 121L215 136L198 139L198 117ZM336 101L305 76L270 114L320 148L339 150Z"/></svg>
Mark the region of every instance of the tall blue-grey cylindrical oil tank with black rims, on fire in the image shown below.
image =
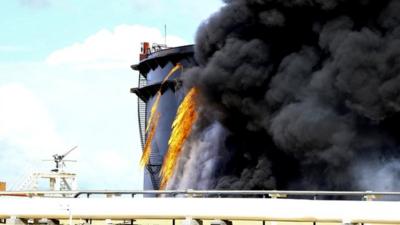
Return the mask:
<svg viewBox="0 0 400 225"><path fill-rule="evenodd" d="M145 190L160 188L160 169L168 150L172 122L185 96L180 88L180 75L193 65L193 45L166 48L156 44L150 47L149 43L145 42L142 43L140 62L131 66L139 71L139 86L132 88L131 92L138 96L141 144L143 150L146 149L146 144L151 148L145 165ZM151 121L154 123L154 114L158 116L152 133L152 127L149 125Z"/></svg>

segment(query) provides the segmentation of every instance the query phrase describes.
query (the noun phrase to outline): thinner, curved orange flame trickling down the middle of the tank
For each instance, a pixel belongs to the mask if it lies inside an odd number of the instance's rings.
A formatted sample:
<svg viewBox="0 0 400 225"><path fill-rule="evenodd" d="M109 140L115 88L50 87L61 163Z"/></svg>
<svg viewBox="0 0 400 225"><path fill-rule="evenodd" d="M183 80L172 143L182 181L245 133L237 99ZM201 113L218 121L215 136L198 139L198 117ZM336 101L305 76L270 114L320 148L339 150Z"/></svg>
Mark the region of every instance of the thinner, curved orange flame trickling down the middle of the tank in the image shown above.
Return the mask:
<svg viewBox="0 0 400 225"><path fill-rule="evenodd" d="M161 83L161 87L179 69L183 69L183 66L182 66L182 64L177 63L169 71L167 76L165 76L165 78L163 79L163 81ZM151 154L151 142L153 141L153 137L156 132L157 125L158 125L158 120L160 119L160 113L157 111L157 109L158 109L158 105L159 105L160 98L161 98L161 87L160 87L160 90L157 91L156 98L155 98L153 106L151 107L151 110L150 110L149 122L147 123L147 127L146 127L146 134L147 134L146 144L144 146L143 154L140 159L140 165L142 165L142 166L146 166L147 163L149 162L150 154Z"/></svg>

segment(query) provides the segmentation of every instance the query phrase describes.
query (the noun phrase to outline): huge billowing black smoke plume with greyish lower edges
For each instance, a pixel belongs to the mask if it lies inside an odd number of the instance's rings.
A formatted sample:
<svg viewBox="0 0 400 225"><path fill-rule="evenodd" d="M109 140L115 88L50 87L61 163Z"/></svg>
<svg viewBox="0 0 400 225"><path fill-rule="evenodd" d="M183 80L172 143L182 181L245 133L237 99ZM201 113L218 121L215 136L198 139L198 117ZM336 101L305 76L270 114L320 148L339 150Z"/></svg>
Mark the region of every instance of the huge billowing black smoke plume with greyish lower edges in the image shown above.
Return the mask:
<svg viewBox="0 0 400 225"><path fill-rule="evenodd" d="M399 191L400 1L225 2L197 33L169 187Z"/></svg>

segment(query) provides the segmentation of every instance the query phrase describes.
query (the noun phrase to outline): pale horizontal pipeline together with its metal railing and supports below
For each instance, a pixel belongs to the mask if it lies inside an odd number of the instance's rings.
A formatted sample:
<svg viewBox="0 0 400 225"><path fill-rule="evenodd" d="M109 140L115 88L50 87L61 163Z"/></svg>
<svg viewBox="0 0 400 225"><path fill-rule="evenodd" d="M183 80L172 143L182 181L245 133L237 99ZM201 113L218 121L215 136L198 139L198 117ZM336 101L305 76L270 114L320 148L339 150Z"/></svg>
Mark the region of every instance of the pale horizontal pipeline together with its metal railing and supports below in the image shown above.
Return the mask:
<svg viewBox="0 0 400 225"><path fill-rule="evenodd" d="M135 197L143 194L164 197ZM58 197L60 195L64 197ZM359 200L318 200L324 196L353 196ZM0 192L0 221L13 225L400 224L400 202L377 200L385 196L398 198L400 193L218 190Z"/></svg>

